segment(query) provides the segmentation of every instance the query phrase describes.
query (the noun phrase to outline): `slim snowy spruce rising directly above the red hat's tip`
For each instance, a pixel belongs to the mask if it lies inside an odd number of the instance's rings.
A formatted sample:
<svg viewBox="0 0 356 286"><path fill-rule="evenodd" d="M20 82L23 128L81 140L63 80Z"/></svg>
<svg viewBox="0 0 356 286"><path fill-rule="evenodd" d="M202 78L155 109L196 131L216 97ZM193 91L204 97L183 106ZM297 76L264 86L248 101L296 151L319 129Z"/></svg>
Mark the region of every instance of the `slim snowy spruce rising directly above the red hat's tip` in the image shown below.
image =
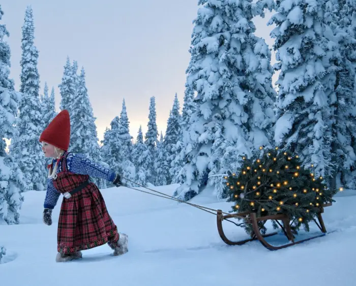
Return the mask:
<svg viewBox="0 0 356 286"><path fill-rule="evenodd" d="M75 109L73 106L73 102L75 100L76 94L76 76L73 75L73 67L71 67L71 63L69 61L69 57L67 57L66 65L64 66L62 83L58 84L61 93L61 110L67 109L69 115L72 116L73 110ZM73 120L71 120L72 126Z"/></svg>

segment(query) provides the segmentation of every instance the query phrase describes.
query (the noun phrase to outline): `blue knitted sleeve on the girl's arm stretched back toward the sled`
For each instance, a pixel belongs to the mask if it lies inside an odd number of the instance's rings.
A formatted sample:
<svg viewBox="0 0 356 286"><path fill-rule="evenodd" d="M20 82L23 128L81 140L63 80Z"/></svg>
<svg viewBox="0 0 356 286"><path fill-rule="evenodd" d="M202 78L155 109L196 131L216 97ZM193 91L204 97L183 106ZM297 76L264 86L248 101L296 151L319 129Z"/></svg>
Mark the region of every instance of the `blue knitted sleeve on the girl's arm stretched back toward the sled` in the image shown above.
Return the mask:
<svg viewBox="0 0 356 286"><path fill-rule="evenodd" d="M76 153L69 153L67 156L68 171L80 174L89 175L95 178L101 178L112 182L115 178L115 173L103 167L102 165L88 160L84 156Z"/></svg>

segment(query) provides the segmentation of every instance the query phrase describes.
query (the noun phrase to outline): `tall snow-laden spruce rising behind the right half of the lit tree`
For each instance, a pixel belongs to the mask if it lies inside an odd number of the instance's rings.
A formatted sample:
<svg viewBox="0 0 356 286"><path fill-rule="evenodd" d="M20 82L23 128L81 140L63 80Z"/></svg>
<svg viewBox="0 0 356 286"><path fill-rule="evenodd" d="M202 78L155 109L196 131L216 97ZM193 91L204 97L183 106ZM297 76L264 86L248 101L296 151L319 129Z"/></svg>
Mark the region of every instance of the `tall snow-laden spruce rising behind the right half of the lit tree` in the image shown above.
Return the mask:
<svg viewBox="0 0 356 286"><path fill-rule="evenodd" d="M300 154L303 166L313 165L318 176L330 178L338 47L329 37L325 5L282 0L269 24L276 25L271 36L278 61L274 68L280 71L276 144Z"/></svg>

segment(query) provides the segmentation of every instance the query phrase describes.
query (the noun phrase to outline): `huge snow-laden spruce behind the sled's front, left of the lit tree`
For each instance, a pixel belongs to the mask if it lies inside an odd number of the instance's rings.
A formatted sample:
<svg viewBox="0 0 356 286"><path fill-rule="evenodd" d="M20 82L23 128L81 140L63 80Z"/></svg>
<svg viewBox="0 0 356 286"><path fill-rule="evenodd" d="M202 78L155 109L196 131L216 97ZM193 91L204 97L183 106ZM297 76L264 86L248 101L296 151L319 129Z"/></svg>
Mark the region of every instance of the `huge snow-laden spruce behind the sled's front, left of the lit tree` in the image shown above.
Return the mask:
<svg viewBox="0 0 356 286"><path fill-rule="evenodd" d="M197 92L185 142L185 166L177 196L189 200L201 192L208 175L222 197L221 173L236 168L236 154L270 146L275 121L271 53L253 33L259 9L250 1L200 0L187 69ZM233 160L233 157L235 160ZM226 161L226 159L229 160Z"/></svg>

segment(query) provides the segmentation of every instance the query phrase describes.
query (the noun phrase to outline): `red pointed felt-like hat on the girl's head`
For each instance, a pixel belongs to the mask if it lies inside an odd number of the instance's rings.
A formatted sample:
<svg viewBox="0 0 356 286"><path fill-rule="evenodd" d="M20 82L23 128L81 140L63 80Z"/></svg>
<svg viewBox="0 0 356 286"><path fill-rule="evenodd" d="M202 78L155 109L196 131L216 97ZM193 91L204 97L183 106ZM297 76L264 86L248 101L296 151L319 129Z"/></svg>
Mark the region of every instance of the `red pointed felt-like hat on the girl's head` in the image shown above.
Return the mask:
<svg viewBox="0 0 356 286"><path fill-rule="evenodd" d="M71 136L71 123L68 110L62 110L42 132L40 142L45 141L67 151Z"/></svg>

